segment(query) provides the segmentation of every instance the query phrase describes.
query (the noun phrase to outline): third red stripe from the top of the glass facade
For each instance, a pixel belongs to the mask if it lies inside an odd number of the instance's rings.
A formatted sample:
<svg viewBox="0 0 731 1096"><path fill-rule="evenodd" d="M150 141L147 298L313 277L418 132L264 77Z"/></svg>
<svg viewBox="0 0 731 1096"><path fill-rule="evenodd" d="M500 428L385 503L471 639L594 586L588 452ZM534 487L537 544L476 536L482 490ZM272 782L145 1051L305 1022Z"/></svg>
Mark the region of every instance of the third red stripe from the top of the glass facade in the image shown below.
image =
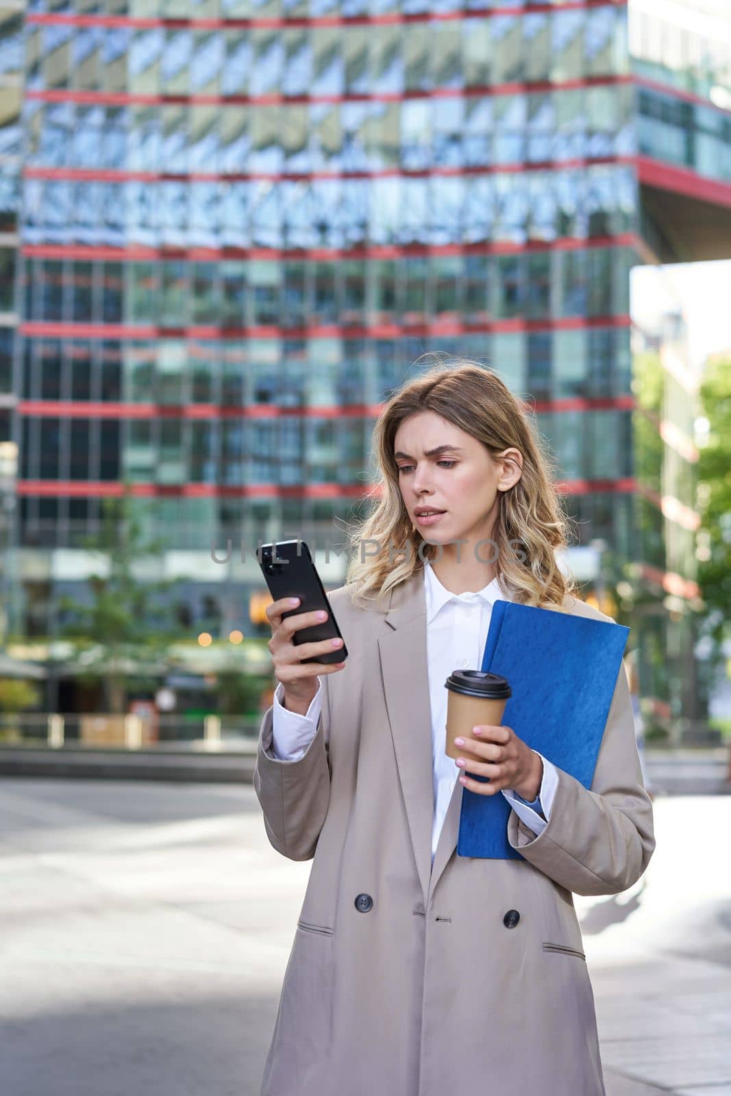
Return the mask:
<svg viewBox="0 0 731 1096"><path fill-rule="evenodd" d="M238 182L272 182L306 183L313 179L347 181L350 179L453 179L465 175L521 175L529 171L564 171L581 168L594 168L601 164L614 167L632 165L636 158L631 156L596 156L574 160L539 160L533 163L500 163L486 167L433 167L420 171L402 171L399 168L387 168L384 171L277 171L277 172L242 172L225 175L220 172L156 172L156 171L116 171L95 168L39 168L24 167L25 179L59 180L65 182L98 182L98 183L238 183Z"/></svg>

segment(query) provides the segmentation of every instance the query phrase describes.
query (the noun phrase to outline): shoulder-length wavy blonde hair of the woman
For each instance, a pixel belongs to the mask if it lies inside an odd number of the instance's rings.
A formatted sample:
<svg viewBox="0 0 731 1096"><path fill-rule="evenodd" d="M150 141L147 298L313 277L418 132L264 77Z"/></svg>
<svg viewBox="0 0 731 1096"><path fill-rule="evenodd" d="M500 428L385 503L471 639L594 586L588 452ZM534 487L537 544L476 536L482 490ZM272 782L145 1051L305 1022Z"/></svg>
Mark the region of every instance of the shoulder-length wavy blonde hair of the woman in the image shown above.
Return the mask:
<svg viewBox="0 0 731 1096"><path fill-rule="evenodd" d="M366 517L347 527L352 555L345 581L352 602L365 605L379 601L423 570L424 559L433 559L439 550L438 545L426 544L411 523L393 457L397 430L410 415L423 411L434 411L482 442L491 457L509 447L521 450L521 479L499 492L492 530L495 578L516 602L562 608L574 584L559 569L556 552L567 547L571 524L559 502L552 460L541 446L529 407L492 369L466 358L455 364L439 361L407 380L376 420L370 459L377 475L365 496L375 505ZM362 558L361 546L368 540L381 550ZM516 541L519 552L513 547Z"/></svg>

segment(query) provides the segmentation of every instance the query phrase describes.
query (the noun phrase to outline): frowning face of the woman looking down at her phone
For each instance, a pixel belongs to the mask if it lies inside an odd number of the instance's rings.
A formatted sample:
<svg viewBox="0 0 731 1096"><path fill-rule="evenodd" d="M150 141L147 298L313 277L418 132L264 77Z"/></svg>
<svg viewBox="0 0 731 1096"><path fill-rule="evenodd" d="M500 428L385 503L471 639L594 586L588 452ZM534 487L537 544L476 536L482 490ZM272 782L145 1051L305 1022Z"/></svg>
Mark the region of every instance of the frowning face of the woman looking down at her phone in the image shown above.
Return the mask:
<svg viewBox="0 0 731 1096"><path fill-rule="evenodd" d="M493 459L481 442L434 411L406 419L393 449L409 517L425 540L436 544L489 538L498 494L519 480L523 466L518 449L505 449ZM443 513L424 520L419 516L422 507Z"/></svg>

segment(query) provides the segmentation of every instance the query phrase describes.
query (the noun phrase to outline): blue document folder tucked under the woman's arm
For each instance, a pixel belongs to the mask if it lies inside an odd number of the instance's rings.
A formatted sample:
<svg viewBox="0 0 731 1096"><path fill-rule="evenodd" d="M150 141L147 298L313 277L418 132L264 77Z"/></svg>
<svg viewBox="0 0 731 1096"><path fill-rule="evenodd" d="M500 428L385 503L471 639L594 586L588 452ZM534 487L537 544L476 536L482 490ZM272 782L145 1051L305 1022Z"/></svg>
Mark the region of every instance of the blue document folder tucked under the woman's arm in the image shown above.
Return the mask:
<svg viewBox="0 0 731 1096"><path fill-rule="evenodd" d="M510 682L503 724L585 788L594 778L628 635L629 628L606 620L513 602L492 606L480 669ZM457 855L522 859L507 841L510 812L502 792L480 796L464 788Z"/></svg>

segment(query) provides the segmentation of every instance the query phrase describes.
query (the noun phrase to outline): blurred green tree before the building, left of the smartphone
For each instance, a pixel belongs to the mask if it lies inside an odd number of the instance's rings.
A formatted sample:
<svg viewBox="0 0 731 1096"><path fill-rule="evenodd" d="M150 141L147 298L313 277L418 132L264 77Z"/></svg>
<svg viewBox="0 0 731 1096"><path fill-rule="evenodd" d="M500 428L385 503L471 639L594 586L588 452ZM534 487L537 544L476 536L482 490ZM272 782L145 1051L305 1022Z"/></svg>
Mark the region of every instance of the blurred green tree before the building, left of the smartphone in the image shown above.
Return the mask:
<svg viewBox="0 0 731 1096"><path fill-rule="evenodd" d="M180 639L174 617L173 590L181 578L146 581L136 564L153 560L164 548L162 539L147 538L135 500L125 484L118 499L102 501L99 534L84 538L88 551L100 556L100 568L87 580L88 601L64 596L58 607L66 620L60 633L72 641L82 680L104 676L107 710L125 710L125 685L145 675L145 667L163 661L169 644Z"/></svg>

